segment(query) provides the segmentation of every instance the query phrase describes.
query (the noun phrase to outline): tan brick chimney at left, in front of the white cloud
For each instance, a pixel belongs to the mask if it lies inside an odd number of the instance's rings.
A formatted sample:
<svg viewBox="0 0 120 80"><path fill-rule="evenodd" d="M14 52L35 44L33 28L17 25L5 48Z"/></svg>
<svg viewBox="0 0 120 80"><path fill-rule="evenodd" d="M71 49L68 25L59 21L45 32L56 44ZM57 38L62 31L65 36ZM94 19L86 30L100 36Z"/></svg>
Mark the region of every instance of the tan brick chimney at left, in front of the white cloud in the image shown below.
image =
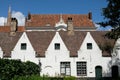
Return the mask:
<svg viewBox="0 0 120 80"><path fill-rule="evenodd" d="M11 25L10 25L10 35L11 36L15 36L17 28L18 28L18 21L17 21L16 18L12 18L11 19Z"/></svg>

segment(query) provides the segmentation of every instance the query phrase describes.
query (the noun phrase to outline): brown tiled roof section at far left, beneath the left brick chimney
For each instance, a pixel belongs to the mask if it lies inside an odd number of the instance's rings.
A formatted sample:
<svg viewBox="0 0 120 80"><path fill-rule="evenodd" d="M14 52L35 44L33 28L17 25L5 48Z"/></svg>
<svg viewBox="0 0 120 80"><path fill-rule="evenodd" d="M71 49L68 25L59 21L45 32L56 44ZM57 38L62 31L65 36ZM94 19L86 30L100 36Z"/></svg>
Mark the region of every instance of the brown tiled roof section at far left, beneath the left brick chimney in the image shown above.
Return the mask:
<svg viewBox="0 0 120 80"><path fill-rule="evenodd" d="M22 32L17 32L15 36L10 36L8 32L0 32L0 47L4 53L4 57L10 57L11 51L21 37Z"/></svg>

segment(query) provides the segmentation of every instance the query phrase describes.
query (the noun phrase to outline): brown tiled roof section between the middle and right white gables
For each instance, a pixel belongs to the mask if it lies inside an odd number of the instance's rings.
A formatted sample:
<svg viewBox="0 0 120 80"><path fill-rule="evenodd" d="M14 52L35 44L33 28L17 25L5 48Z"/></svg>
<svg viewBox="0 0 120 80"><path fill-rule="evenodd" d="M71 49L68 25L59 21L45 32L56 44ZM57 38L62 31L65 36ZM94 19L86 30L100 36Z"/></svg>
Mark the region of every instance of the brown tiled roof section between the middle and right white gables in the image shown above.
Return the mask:
<svg viewBox="0 0 120 80"><path fill-rule="evenodd" d="M86 32L76 31L74 35L68 35L67 32L61 31L60 36L63 39L66 47L70 51L70 56L77 56L77 51L80 49L80 46L86 36Z"/></svg>

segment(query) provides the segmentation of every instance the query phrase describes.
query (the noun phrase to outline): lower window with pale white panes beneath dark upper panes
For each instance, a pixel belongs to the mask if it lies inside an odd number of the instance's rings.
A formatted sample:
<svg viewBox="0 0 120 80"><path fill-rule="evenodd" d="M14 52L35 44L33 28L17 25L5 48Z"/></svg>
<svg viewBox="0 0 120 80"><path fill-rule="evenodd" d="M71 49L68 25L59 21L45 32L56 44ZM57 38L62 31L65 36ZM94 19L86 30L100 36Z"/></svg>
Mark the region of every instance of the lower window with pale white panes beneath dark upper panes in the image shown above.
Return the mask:
<svg viewBox="0 0 120 80"><path fill-rule="evenodd" d="M70 69L70 62L61 62L60 63L60 72L61 75L70 76L71 75L71 69Z"/></svg>

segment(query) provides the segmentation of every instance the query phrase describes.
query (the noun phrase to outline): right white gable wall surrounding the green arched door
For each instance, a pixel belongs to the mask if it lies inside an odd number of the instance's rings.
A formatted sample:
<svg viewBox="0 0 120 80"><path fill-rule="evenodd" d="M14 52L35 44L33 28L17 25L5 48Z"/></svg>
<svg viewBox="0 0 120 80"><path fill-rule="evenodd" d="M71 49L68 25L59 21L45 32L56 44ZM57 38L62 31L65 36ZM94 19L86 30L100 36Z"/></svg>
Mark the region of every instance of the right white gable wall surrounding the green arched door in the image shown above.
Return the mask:
<svg viewBox="0 0 120 80"><path fill-rule="evenodd" d="M92 49L87 49L87 43L92 43ZM110 58L104 58L104 60L106 60L106 62L109 62ZM107 63L103 61L102 51L100 50L99 46L89 32L87 32L87 35L80 47L80 50L78 51L78 61L87 62L88 77L95 77L96 66L101 66L103 72L106 71Z"/></svg>

